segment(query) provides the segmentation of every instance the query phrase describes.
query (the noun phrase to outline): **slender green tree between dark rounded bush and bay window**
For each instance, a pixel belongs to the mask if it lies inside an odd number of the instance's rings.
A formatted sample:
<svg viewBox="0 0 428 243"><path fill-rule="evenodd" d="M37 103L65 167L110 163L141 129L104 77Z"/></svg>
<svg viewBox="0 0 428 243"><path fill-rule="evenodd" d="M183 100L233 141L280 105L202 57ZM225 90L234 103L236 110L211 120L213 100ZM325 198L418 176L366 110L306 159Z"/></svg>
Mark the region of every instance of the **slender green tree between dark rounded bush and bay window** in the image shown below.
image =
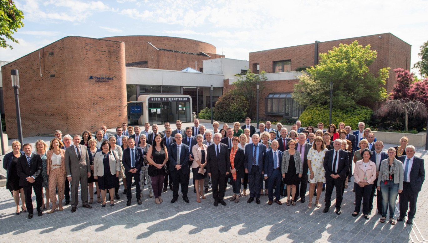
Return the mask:
<svg viewBox="0 0 428 243"><path fill-rule="evenodd" d="M249 103L249 117L254 118L256 114L257 104L257 83L259 83L259 94L265 90L265 84L263 81L268 80L265 75L265 71L261 71L260 74L251 72L247 69L244 75L236 75L238 80L233 82L235 90L233 91L236 95L244 96ZM259 95L259 101L261 96Z"/></svg>

